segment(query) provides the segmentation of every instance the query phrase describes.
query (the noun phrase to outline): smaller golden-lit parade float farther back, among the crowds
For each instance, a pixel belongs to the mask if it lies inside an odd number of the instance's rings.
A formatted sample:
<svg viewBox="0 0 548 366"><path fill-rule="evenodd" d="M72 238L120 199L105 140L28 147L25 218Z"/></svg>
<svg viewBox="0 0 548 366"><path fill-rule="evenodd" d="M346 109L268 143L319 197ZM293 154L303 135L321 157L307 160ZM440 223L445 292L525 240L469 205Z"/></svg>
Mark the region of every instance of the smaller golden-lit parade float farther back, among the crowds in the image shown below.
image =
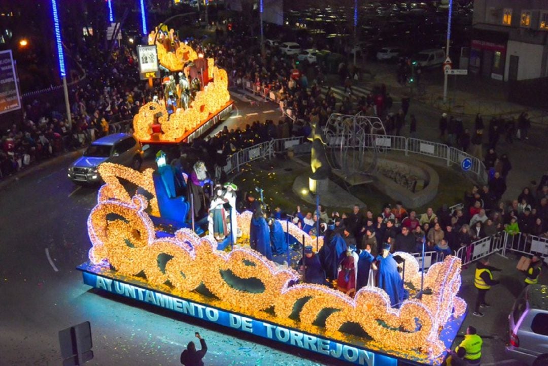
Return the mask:
<svg viewBox="0 0 548 366"><path fill-rule="evenodd" d="M155 99L133 117L141 144L190 142L232 111L225 70L180 42L174 31L152 31L149 45L138 47L142 79L162 79L164 99ZM159 61L159 67L158 67Z"/></svg>

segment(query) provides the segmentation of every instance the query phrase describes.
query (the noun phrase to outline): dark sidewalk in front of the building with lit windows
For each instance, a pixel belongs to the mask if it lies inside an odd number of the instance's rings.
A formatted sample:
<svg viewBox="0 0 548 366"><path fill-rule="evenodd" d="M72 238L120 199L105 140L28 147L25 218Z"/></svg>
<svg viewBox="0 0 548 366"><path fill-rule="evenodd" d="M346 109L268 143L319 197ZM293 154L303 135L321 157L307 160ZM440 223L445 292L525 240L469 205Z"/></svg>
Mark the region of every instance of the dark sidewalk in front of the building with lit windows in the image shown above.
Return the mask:
<svg viewBox="0 0 548 366"><path fill-rule="evenodd" d="M420 84L425 85L426 93L419 95L416 85L413 89L397 82L396 65L381 62L367 62L360 65L362 70L369 70L374 77L364 74L359 84L369 88L384 83L389 93L396 98L412 95L412 98L438 110L453 115L475 116L481 113L484 117L519 115L528 111L532 122L548 124L548 110L539 110L508 101L510 85L506 82L482 78L475 75L449 75L447 102L443 102L443 78L439 70L426 70L420 77ZM547 106L548 107L548 106Z"/></svg>

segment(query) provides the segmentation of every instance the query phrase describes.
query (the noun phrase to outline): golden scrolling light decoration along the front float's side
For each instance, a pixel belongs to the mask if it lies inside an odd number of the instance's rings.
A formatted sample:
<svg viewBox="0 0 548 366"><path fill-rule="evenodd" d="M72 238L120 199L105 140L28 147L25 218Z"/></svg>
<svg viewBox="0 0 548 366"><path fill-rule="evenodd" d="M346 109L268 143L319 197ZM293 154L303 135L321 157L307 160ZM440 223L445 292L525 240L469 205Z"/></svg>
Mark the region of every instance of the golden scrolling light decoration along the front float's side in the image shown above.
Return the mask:
<svg viewBox="0 0 548 366"><path fill-rule="evenodd" d="M93 264L107 261L124 276L143 272L154 287L166 287L169 283L172 291L193 298L203 284L219 299L212 301L226 310L313 333L322 329L340 341L349 341L349 335L340 331L341 327L356 323L373 339L368 342L369 347L383 347L423 359L435 359L442 354L439 331L452 315L465 311L464 301L456 297L460 259L454 256L433 265L426 273L431 295L423 295L422 301L405 300L401 308L393 309L388 295L380 288L362 288L352 299L322 285L291 285L299 278L296 271L278 266L250 248L237 247L230 253L217 250L218 244L212 237L200 238L187 228L177 231L173 238L157 238L145 212L146 198L136 195L128 201L119 192L115 195L115 190L112 185L102 187L99 203L89 215L88 233L93 244L89 258ZM238 215L242 231L249 227L248 220L249 211ZM169 258L165 260L164 271L158 264L161 255ZM406 281L414 282L420 275L418 263L413 256L406 256L406 262ZM240 279L256 278L264 290L237 289L227 283L228 272ZM289 315L299 300L305 304L299 311L299 321L293 321ZM270 308L273 313L265 311ZM326 309L333 312L327 316L325 326L318 327L315 322Z"/></svg>

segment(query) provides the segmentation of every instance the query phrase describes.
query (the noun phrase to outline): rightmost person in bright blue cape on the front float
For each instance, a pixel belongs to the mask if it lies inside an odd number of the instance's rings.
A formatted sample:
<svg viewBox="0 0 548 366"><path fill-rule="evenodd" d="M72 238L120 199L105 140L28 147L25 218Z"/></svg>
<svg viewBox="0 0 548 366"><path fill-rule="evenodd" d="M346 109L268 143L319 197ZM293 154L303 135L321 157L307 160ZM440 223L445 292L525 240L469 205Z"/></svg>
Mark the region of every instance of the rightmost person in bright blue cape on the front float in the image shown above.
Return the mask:
<svg viewBox="0 0 548 366"><path fill-rule="evenodd" d="M377 256L379 267L378 286L385 290L392 307L399 307L405 296L403 280L398 273L398 263L390 253L390 244L383 244L383 254Z"/></svg>

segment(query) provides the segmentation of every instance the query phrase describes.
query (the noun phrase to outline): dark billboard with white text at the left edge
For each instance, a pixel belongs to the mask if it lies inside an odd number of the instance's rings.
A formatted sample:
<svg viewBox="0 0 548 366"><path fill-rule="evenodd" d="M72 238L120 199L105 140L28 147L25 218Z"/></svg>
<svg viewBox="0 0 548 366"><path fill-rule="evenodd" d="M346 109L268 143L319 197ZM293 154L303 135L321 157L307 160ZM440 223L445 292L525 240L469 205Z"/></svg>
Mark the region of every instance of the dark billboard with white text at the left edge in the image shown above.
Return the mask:
<svg viewBox="0 0 548 366"><path fill-rule="evenodd" d="M0 52L0 114L21 108L12 50Z"/></svg>

